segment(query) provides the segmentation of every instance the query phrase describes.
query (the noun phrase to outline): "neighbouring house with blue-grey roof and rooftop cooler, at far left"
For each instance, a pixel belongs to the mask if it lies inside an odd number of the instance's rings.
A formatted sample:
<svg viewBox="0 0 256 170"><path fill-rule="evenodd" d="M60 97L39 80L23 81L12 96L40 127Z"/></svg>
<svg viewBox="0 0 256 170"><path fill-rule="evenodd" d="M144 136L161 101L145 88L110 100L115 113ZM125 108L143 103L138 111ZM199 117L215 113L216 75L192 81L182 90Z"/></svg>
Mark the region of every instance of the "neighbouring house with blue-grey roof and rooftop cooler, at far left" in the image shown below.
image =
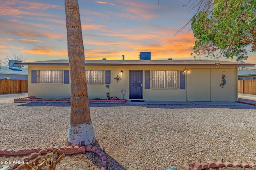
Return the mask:
<svg viewBox="0 0 256 170"><path fill-rule="evenodd" d="M28 80L28 69L14 63L21 61L10 60L8 67L0 66L0 79Z"/></svg>

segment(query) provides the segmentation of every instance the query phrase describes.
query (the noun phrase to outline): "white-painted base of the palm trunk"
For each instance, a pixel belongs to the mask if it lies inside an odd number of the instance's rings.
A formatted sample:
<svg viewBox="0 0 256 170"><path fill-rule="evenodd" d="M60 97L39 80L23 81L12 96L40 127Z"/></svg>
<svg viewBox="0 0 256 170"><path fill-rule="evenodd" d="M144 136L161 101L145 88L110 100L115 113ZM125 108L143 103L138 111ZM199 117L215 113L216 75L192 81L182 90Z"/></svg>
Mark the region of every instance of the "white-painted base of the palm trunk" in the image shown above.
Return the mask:
<svg viewBox="0 0 256 170"><path fill-rule="evenodd" d="M69 125L67 141L71 146L79 146L81 142L84 142L84 145L93 144L95 135L92 123L84 123L77 126Z"/></svg>

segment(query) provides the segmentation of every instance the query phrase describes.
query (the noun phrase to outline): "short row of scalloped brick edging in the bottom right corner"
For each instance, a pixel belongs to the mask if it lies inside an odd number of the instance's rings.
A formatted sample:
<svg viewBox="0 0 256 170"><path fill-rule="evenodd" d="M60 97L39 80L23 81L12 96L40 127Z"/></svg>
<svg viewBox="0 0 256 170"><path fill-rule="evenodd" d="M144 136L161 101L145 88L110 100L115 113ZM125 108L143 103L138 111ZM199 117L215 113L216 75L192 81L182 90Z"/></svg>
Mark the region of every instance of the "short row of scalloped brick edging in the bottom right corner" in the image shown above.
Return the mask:
<svg viewBox="0 0 256 170"><path fill-rule="evenodd" d="M205 162L196 162L195 164L186 164L185 170L203 170L205 168L222 168L222 167L242 167L242 168L253 168L256 166L253 163L247 164L246 162L242 162L239 164L238 162L230 163L228 161L212 161L209 160L207 163Z"/></svg>

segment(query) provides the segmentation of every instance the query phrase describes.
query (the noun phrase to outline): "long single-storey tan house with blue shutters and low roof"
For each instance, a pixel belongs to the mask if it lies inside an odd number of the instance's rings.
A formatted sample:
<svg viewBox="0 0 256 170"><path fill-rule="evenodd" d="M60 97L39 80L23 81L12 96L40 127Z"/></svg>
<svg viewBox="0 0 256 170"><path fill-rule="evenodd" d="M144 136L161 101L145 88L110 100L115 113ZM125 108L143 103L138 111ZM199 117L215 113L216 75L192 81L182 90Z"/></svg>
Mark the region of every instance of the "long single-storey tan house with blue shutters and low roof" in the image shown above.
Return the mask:
<svg viewBox="0 0 256 170"><path fill-rule="evenodd" d="M255 64L213 60L86 60L90 99L238 101L238 66ZM28 65L28 96L70 98L68 60ZM78 77L79 78L79 77Z"/></svg>

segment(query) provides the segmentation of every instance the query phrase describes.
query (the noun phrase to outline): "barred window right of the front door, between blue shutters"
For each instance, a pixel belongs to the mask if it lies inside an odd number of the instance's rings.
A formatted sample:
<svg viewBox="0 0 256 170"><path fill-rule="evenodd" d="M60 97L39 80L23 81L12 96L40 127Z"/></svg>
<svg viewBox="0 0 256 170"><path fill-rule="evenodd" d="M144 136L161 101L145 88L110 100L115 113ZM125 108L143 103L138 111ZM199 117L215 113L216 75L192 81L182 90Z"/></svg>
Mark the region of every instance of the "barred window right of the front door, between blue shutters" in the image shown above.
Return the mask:
<svg viewBox="0 0 256 170"><path fill-rule="evenodd" d="M152 88L178 88L178 71L152 71Z"/></svg>

